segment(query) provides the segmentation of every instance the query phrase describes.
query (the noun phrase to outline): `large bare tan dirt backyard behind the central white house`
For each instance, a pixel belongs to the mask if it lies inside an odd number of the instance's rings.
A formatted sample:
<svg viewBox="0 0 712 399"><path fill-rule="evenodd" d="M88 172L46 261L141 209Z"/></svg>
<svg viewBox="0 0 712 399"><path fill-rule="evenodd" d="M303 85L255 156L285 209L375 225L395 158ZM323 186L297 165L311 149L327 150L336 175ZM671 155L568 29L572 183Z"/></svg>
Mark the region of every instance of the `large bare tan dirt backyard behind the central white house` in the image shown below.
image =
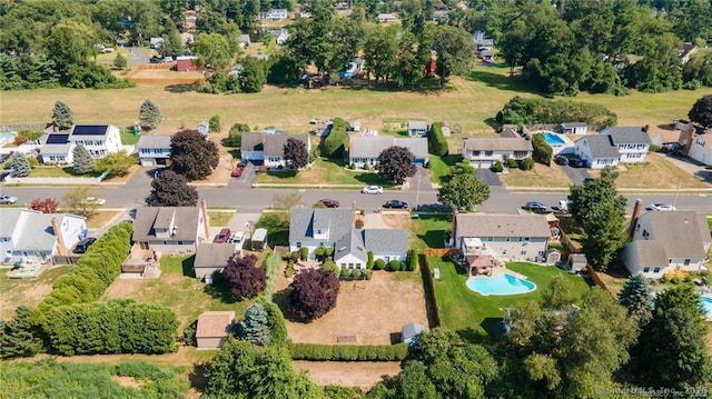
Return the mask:
<svg viewBox="0 0 712 399"><path fill-rule="evenodd" d="M335 345L337 336L355 336L356 345L390 345L403 325L428 325L419 275L376 271L368 281L343 281L336 308L310 323L287 321L294 342ZM402 273L402 275L403 275ZM417 272L415 272L417 273ZM283 299L289 281L280 273Z"/></svg>

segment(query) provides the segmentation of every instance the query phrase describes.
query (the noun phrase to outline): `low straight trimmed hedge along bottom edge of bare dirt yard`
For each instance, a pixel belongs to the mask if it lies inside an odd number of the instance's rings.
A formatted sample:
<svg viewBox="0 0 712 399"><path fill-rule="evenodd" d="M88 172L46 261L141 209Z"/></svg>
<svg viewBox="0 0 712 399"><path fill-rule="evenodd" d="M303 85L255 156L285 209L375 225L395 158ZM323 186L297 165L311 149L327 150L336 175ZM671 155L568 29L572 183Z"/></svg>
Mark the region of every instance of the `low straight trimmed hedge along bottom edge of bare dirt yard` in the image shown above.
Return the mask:
<svg viewBox="0 0 712 399"><path fill-rule="evenodd" d="M294 360L314 361L402 361L408 356L408 346L318 345L289 342Z"/></svg>

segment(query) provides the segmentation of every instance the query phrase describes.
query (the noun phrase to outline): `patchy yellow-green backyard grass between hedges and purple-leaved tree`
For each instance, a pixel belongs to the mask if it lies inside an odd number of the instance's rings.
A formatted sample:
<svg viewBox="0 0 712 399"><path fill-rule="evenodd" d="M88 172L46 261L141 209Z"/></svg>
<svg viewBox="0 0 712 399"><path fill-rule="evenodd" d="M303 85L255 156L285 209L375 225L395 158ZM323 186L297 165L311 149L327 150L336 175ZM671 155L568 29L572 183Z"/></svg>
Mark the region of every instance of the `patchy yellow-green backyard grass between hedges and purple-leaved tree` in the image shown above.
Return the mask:
<svg viewBox="0 0 712 399"><path fill-rule="evenodd" d="M139 302L162 303L176 311L180 330L208 310L235 310L241 319L249 301L236 302L212 286L206 286L192 276L194 257L160 258L161 276L157 280L116 279L101 297L132 298Z"/></svg>

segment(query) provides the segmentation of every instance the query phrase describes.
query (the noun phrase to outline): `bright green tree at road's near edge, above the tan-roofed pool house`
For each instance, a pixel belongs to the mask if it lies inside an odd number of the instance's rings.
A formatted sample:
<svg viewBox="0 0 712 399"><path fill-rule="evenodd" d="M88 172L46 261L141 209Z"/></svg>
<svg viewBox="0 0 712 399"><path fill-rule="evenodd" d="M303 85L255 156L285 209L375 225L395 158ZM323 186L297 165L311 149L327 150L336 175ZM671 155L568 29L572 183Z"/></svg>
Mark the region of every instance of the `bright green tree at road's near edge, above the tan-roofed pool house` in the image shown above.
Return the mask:
<svg viewBox="0 0 712 399"><path fill-rule="evenodd" d="M469 164L451 168L449 176L437 190L437 200L462 211L472 211L490 198L490 186L477 177Z"/></svg>

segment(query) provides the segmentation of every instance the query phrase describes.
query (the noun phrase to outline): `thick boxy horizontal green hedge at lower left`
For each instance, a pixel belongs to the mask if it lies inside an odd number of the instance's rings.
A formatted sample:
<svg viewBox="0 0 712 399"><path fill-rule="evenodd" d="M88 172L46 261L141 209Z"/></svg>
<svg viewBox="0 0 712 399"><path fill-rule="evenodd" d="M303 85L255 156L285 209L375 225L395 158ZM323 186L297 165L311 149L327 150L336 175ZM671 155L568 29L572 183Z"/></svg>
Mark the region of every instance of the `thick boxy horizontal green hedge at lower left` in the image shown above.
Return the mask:
<svg viewBox="0 0 712 399"><path fill-rule="evenodd" d="M166 353L176 350L178 318L158 303L131 299L49 309L40 328L50 353Z"/></svg>

